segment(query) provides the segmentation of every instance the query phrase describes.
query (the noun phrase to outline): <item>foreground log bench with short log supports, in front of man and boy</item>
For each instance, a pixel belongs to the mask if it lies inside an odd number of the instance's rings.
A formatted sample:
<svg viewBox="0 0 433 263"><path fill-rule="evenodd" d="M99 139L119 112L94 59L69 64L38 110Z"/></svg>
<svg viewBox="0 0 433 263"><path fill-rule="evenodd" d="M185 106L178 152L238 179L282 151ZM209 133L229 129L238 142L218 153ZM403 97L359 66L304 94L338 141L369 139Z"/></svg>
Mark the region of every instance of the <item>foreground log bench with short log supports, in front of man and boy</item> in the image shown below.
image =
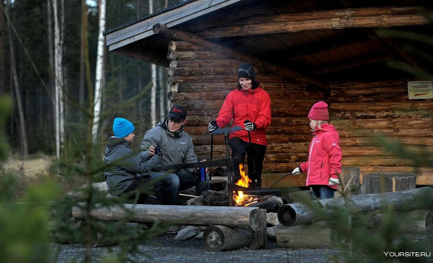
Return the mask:
<svg viewBox="0 0 433 263"><path fill-rule="evenodd" d="M125 208L99 206L90 210L90 216L100 221L125 221L130 223L153 223L156 221L172 221L181 225L216 225L220 231L210 228L203 234L204 247L208 251L223 251L245 247L245 241L237 242L239 236L233 233L250 233L249 248L263 249L267 246L266 210L258 207L229 207L229 206L164 206L124 204ZM76 220L85 219L85 203L78 203L72 209ZM224 226L225 228L220 228ZM231 230L227 230L230 228ZM238 229L238 230L236 230ZM240 231L245 229L246 231ZM219 235L222 246L216 244L214 237ZM94 235L98 236L98 235ZM243 235L242 235L243 236ZM247 234L247 236L249 236Z"/></svg>

